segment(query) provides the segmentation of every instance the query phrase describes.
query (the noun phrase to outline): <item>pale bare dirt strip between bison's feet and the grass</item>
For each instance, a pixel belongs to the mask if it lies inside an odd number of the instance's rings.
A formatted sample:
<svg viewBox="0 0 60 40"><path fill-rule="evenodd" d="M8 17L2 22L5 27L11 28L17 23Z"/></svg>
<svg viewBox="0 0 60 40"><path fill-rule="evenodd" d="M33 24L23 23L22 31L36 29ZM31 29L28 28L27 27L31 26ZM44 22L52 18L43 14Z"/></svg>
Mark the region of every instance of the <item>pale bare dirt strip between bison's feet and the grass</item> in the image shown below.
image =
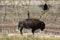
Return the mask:
<svg viewBox="0 0 60 40"><path fill-rule="evenodd" d="M8 36L28 36L28 35L33 35L32 33L24 33L23 35L21 34L8 34ZM60 38L60 35L51 35L51 34L40 34L40 33L35 33L34 36L39 36L39 37L46 37L46 38L49 38L49 37L59 37Z"/></svg>

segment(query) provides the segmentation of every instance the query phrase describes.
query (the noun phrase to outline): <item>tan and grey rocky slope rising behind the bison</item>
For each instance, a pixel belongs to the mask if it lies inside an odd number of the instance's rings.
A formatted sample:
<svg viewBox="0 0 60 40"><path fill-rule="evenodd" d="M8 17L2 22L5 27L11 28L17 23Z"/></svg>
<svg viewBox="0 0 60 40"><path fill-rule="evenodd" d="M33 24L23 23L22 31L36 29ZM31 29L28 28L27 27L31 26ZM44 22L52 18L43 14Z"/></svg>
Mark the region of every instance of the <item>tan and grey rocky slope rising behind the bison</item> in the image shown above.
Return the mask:
<svg viewBox="0 0 60 40"><path fill-rule="evenodd" d="M52 7L44 11L42 7L47 2ZM8 26L9 28L18 25L19 21L28 18L29 11L31 18L44 21L46 29L44 32L60 34L60 1L59 0L0 0L0 26ZM16 27L13 29L16 31ZM4 30L6 27L3 27ZM7 30L10 30L7 28ZM2 30L0 28L0 30ZM4 32L4 31L3 31Z"/></svg>

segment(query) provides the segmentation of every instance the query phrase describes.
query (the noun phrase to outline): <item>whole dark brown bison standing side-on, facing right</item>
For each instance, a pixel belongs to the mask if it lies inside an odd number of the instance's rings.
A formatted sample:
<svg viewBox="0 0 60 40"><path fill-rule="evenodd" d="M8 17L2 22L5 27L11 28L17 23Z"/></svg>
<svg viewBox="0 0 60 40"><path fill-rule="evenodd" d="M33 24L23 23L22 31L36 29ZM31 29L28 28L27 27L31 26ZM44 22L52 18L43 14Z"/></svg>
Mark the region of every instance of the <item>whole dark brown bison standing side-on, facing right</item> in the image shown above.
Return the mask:
<svg viewBox="0 0 60 40"><path fill-rule="evenodd" d="M21 34L23 28L32 29L32 33L34 34L36 29L41 29L41 31L43 31L43 29L45 29L45 23L38 19L25 19L24 21L20 21L18 24L18 30Z"/></svg>

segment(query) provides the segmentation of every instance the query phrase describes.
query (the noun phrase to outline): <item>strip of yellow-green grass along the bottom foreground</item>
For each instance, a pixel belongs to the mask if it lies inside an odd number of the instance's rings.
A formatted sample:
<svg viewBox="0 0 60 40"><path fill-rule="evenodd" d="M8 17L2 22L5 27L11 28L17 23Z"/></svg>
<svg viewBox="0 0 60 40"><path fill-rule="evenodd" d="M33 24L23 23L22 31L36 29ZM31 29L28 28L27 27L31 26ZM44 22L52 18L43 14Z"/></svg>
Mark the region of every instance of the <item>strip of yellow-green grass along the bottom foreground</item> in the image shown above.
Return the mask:
<svg viewBox="0 0 60 40"><path fill-rule="evenodd" d="M57 37L40 37L35 35L15 35L15 36L1 36L0 40L60 40Z"/></svg>

